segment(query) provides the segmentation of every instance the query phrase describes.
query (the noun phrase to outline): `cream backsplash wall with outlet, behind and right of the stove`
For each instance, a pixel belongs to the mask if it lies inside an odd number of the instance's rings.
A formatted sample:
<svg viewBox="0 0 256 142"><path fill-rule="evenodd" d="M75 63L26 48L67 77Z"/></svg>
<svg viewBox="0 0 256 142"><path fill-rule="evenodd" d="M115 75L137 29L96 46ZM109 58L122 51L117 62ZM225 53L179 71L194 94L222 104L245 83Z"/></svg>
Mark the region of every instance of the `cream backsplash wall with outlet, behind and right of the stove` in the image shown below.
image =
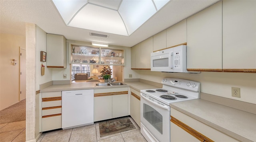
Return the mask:
<svg viewBox="0 0 256 142"><path fill-rule="evenodd" d="M256 74L253 73L227 73L227 72L201 72L165 73L140 70L140 78L161 83L165 77L194 80L201 83L201 92L236 99L256 104ZM240 88L241 98L231 96L231 87Z"/></svg>

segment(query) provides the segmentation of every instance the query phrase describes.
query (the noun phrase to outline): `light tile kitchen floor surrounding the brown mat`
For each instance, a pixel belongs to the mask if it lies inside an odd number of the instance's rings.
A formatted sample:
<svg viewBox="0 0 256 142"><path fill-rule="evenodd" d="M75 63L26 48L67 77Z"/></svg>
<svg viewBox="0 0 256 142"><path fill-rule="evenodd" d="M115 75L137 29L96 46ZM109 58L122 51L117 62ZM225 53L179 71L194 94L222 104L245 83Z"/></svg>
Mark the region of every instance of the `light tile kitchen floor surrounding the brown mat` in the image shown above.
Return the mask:
<svg viewBox="0 0 256 142"><path fill-rule="evenodd" d="M132 118L130 120L136 129L100 137L99 123L94 123L43 133L37 142L147 142L140 133L140 127Z"/></svg>

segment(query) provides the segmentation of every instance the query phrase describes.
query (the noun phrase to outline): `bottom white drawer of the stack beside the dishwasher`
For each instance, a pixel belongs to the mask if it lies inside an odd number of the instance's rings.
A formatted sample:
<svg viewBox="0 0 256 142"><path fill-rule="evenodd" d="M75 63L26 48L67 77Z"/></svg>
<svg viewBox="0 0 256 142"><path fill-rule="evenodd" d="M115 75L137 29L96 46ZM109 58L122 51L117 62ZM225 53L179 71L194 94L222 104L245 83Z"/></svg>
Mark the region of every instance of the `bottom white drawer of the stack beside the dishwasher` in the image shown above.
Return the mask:
<svg viewBox="0 0 256 142"><path fill-rule="evenodd" d="M42 132L61 128L61 115L42 118Z"/></svg>

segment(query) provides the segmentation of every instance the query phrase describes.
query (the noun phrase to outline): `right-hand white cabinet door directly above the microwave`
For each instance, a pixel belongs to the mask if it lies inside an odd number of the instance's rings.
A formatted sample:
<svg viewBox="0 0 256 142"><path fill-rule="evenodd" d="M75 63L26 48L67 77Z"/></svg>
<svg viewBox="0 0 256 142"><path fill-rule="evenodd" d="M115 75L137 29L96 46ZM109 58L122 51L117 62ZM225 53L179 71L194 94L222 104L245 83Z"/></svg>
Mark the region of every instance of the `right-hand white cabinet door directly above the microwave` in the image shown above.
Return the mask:
<svg viewBox="0 0 256 142"><path fill-rule="evenodd" d="M166 29L166 47L185 44L187 42L187 19Z"/></svg>

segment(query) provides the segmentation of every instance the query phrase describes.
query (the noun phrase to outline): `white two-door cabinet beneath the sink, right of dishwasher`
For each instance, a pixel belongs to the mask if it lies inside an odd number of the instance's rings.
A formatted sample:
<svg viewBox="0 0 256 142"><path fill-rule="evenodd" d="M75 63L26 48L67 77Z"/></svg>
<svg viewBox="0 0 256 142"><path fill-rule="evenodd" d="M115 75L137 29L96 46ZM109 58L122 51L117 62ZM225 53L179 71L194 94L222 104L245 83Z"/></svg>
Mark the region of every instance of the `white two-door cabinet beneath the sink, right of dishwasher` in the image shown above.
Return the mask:
<svg viewBox="0 0 256 142"><path fill-rule="evenodd" d="M127 115L127 87L94 89L94 122Z"/></svg>

